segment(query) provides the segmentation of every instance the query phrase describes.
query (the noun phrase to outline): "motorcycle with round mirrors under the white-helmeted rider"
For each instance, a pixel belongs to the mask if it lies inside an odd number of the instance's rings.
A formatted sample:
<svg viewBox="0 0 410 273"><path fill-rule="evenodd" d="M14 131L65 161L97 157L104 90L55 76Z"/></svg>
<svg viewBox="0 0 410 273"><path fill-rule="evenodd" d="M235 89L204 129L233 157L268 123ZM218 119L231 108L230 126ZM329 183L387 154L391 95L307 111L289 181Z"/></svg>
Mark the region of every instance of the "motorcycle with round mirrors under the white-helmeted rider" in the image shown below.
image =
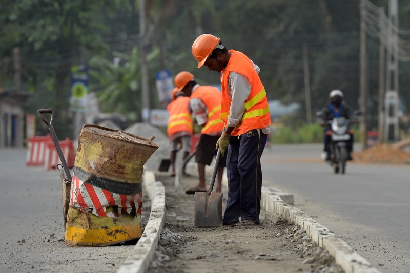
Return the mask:
<svg viewBox="0 0 410 273"><path fill-rule="evenodd" d="M356 110L353 112L352 121L357 122L357 116L361 113ZM323 116L321 111L316 113L316 116L319 118ZM335 117L332 120L326 121L325 125L330 125L331 130L326 133L331 136L331 141L329 144L329 156L326 160L326 155L323 160L329 163L334 170L334 173L344 174L346 172L346 162L348 158L347 143L350 140L351 134L353 132L349 129L350 120L344 117Z"/></svg>

